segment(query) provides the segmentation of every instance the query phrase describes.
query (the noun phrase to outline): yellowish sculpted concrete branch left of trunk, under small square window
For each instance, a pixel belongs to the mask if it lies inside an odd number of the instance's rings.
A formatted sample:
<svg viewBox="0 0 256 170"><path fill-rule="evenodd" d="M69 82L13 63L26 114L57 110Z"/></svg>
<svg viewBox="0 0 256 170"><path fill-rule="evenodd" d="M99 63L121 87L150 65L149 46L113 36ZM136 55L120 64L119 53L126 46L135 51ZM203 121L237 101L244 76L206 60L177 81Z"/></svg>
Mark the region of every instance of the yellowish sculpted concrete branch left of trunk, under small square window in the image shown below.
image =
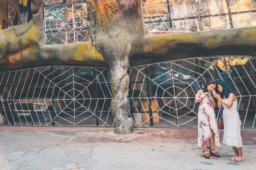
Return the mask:
<svg viewBox="0 0 256 170"><path fill-rule="evenodd" d="M37 12L37 10L35 11ZM22 66L65 63L108 66L102 55L93 46L92 41L77 45L44 45L41 16L40 13L34 14L33 19L27 25L17 25L0 31L2 70Z"/></svg>

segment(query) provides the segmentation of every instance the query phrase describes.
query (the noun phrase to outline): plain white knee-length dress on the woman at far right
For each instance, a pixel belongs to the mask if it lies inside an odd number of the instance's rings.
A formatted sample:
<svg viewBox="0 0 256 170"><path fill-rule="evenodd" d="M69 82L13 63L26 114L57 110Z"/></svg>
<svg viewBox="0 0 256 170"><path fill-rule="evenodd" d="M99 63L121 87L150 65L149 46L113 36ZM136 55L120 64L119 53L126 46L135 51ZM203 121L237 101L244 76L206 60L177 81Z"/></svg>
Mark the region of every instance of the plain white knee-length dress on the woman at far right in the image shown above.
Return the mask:
<svg viewBox="0 0 256 170"><path fill-rule="evenodd" d="M224 101L228 102L228 99L224 99ZM241 137L242 123L237 112L237 101L234 101L230 108L224 104L222 106L224 124L223 143L228 146L240 148L243 146Z"/></svg>

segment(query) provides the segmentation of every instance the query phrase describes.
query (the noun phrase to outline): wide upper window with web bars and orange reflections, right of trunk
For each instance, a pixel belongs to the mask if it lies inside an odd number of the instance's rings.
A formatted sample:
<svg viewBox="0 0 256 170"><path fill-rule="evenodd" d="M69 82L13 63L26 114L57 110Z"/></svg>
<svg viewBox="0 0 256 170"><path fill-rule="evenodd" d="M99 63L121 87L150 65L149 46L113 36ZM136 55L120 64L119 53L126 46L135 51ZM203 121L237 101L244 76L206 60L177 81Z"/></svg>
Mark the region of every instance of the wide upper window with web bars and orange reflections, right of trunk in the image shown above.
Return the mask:
<svg viewBox="0 0 256 170"><path fill-rule="evenodd" d="M256 3L252 0L147 0L141 3L145 36L256 25Z"/></svg>

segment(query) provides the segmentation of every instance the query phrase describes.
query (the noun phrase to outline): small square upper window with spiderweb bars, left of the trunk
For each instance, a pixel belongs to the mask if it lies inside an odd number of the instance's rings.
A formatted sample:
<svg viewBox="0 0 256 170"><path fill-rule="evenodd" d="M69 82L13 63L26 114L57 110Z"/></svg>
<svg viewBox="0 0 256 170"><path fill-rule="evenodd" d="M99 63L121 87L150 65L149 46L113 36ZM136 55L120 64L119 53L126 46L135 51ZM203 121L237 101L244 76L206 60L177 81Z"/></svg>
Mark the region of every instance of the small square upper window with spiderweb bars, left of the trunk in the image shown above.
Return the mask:
<svg viewBox="0 0 256 170"><path fill-rule="evenodd" d="M44 0L44 41L47 45L88 41L84 0Z"/></svg>

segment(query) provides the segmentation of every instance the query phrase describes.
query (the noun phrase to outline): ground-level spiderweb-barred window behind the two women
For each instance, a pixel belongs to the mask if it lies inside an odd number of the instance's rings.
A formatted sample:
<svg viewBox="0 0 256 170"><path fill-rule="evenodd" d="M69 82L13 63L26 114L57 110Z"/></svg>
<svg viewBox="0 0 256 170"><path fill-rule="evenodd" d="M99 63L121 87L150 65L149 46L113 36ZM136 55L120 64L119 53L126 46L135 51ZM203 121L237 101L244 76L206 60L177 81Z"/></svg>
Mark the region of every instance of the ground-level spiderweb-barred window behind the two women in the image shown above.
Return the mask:
<svg viewBox="0 0 256 170"><path fill-rule="evenodd" d="M238 100L243 128L256 128L255 57L202 57L131 67L131 117L136 127L197 127L195 94L226 80ZM216 117L220 115L217 108Z"/></svg>

